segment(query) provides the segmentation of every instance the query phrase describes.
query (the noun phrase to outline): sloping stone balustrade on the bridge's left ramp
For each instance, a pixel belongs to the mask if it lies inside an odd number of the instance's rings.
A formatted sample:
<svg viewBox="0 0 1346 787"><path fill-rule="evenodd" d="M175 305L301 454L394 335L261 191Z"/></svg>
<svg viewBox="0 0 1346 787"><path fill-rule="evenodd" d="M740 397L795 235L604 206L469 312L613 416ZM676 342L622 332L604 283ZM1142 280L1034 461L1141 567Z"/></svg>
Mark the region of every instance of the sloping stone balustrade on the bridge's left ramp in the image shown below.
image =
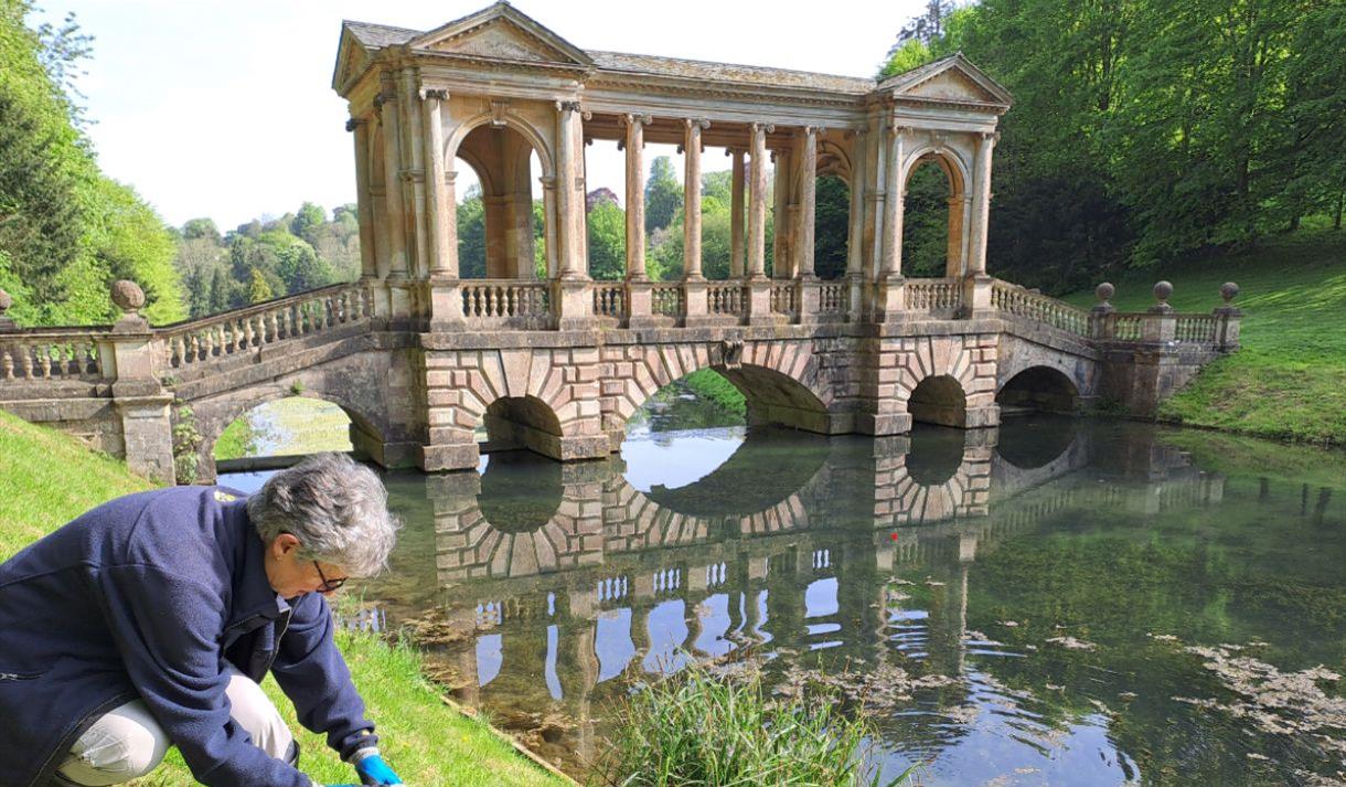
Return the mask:
<svg viewBox="0 0 1346 787"><path fill-rule="evenodd" d="M302 295L258 303L238 311L180 322L155 330L168 368L254 352L373 317L373 295L363 284L336 284Z"/></svg>

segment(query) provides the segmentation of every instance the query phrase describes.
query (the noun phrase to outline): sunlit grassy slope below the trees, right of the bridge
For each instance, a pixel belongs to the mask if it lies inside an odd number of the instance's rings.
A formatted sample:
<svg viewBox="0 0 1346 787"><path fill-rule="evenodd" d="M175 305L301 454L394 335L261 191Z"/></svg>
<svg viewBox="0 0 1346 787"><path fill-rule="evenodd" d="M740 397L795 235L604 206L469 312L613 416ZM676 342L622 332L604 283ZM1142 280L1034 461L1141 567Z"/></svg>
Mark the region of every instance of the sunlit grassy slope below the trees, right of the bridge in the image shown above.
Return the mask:
<svg viewBox="0 0 1346 787"><path fill-rule="evenodd" d="M1174 284L1172 306L1209 313L1237 282L1242 348L1206 367L1160 418L1233 433L1346 445L1346 233L1302 232L1237 253L1119 279L1113 305L1140 311L1151 286ZM1093 292L1066 301L1092 306Z"/></svg>

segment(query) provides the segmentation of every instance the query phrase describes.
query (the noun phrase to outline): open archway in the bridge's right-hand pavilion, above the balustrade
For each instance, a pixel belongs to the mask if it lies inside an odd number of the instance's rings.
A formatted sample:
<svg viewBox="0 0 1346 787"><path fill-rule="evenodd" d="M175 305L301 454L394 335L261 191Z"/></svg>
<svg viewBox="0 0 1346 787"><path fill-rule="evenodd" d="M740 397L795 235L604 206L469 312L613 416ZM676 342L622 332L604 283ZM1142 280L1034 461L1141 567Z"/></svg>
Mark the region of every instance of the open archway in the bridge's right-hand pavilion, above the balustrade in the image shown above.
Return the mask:
<svg viewBox="0 0 1346 787"><path fill-rule="evenodd" d="M952 154L917 158L906 175L902 218L902 272L917 278L964 274L965 229L972 198Z"/></svg>

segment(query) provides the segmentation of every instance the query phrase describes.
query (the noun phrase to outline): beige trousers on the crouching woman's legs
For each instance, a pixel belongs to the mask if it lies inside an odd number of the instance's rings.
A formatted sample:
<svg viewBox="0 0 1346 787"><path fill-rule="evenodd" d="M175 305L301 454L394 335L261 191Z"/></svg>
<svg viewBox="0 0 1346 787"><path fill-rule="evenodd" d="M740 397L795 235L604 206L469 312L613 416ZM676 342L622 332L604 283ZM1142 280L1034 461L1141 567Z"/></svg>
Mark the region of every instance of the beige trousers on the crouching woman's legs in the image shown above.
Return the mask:
<svg viewBox="0 0 1346 787"><path fill-rule="evenodd" d="M230 664L225 694L230 716L248 730L257 748L277 760L289 756L295 738L261 686ZM121 784L157 768L171 743L145 703L132 699L93 722L57 772L86 787Z"/></svg>

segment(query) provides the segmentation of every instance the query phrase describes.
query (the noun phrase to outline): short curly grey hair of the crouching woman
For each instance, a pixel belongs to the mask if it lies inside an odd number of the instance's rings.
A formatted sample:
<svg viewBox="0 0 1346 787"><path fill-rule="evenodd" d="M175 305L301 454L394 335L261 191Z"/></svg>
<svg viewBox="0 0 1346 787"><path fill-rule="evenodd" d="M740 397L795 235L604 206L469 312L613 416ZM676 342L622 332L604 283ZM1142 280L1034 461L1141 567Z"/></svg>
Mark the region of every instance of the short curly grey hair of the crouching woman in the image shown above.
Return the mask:
<svg viewBox="0 0 1346 787"><path fill-rule="evenodd" d="M373 577L388 565L401 523L388 491L346 454L314 454L267 480L248 499L248 519L268 544L283 532L299 539L299 558Z"/></svg>

